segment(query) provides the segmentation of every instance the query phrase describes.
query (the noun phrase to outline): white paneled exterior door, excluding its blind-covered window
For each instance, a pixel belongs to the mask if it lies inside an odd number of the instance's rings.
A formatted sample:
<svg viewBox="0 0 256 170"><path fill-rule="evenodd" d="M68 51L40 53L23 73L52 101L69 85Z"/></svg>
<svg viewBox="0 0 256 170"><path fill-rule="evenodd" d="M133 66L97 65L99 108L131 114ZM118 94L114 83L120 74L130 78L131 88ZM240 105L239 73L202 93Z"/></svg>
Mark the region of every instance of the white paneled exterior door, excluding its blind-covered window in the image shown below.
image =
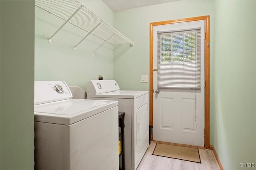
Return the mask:
<svg viewBox="0 0 256 170"><path fill-rule="evenodd" d="M199 89L161 89L158 87L158 71L154 71L153 136L156 141L204 146L204 20L154 26L153 67L157 69L159 62L157 32L199 27L201 28Z"/></svg>

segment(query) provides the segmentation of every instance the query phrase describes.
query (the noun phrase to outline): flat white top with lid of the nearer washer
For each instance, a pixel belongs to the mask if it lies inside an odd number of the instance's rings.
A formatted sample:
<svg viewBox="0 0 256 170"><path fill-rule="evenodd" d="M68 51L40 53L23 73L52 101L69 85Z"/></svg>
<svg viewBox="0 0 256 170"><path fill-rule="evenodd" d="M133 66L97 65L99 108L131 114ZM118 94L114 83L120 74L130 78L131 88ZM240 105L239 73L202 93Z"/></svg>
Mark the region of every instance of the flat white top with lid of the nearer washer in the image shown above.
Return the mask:
<svg viewBox="0 0 256 170"><path fill-rule="evenodd" d="M117 101L68 99L34 106L35 121L71 125L118 106Z"/></svg>

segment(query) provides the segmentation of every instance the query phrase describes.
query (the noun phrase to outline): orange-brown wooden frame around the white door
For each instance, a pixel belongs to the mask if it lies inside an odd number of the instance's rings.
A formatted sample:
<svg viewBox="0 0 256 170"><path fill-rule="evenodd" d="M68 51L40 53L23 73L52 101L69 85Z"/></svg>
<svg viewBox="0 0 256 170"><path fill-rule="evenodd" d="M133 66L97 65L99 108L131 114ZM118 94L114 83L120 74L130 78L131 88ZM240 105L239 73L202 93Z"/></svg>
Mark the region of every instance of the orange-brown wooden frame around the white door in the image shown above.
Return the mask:
<svg viewBox="0 0 256 170"><path fill-rule="evenodd" d="M205 21L205 111L204 111L204 122L205 122L205 140L204 147L210 149L210 16L199 16L193 18L185 18L179 20L170 20L170 21L161 21L161 22L152 22L150 23L150 84L149 84L149 97L150 97L150 120L149 124L153 126L153 28L154 26L166 25L166 24L175 24L182 22L192 22L192 21ZM154 137L154 136L153 136Z"/></svg>

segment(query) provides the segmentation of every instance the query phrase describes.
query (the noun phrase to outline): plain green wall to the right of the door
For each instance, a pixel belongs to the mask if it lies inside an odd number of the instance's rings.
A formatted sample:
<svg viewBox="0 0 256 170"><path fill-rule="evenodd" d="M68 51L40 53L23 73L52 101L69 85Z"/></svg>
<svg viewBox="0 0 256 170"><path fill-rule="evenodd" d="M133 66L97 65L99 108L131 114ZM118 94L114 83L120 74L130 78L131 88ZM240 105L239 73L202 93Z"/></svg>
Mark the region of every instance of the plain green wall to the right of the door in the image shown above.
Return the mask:
<svg viewBox="0 0 256 170"><path fill-rule="evenodd" d="M226 170L256 163L255 3L214 2L211 144Z"/></svg>

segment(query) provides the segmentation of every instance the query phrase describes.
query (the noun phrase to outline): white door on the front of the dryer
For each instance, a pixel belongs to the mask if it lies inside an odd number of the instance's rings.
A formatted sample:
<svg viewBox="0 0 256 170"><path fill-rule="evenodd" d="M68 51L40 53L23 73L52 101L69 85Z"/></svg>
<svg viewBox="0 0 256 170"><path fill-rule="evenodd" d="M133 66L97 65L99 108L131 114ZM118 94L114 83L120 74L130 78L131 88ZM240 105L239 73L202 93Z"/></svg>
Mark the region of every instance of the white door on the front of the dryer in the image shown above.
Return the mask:
<svg viewBox="0 0 256 170"><path fill-rule="evenodd" d="M136 123L136 145L138 147L148 133L148 103L142 105L136 110Z"/></svg>

